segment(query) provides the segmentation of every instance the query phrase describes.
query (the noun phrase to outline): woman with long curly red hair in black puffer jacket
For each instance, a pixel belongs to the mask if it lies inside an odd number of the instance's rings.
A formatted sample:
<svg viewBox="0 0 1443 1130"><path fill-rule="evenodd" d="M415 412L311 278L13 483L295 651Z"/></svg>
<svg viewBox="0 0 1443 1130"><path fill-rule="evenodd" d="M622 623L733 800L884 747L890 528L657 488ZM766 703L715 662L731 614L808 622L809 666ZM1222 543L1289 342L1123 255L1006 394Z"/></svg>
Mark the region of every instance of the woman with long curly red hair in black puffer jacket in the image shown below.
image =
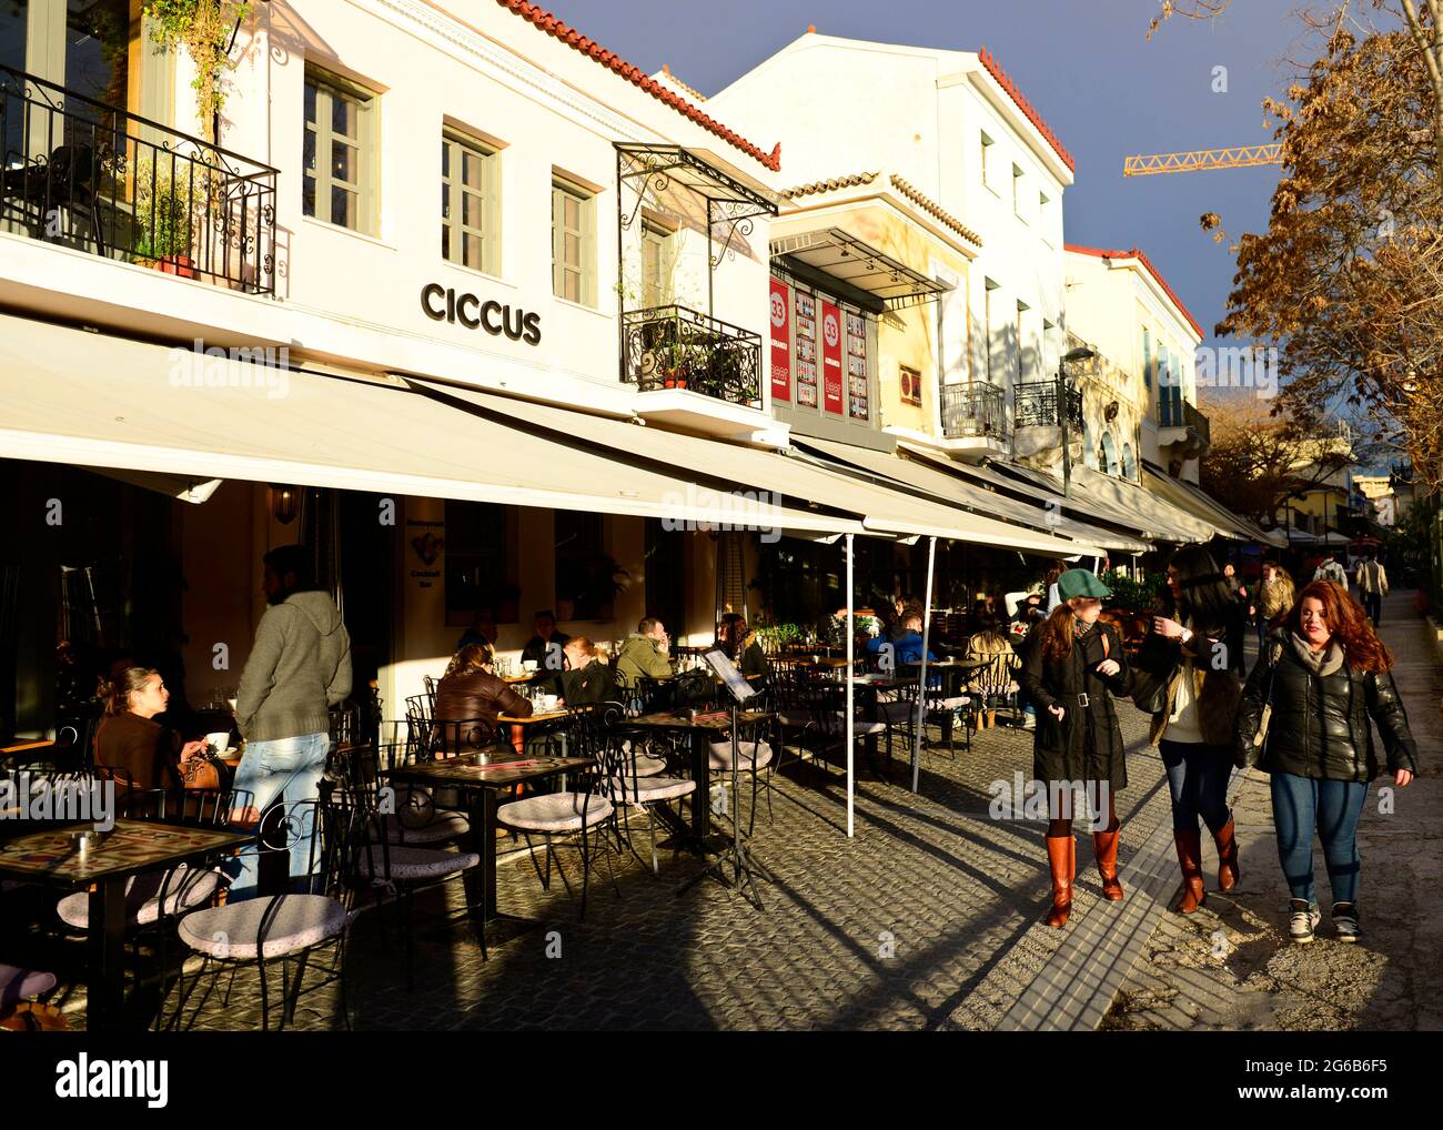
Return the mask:
<svg viewBox="0 0 1443 1130"><path fill-rule="evenodd" d="M1313 895L1313 836L1323 841L1338 940L1355 942L1358 817L1378 775L1382 735L1398 788L1417 774L1417 743L1390 670L1392 655L1348 590L1315 580L1253 668L1238 714L1238 763L1271 775L1277 854L1291 890L1289 937L1310 942L1322 912ZM1263 723L1267 719L1266 736Z"/></svg>

